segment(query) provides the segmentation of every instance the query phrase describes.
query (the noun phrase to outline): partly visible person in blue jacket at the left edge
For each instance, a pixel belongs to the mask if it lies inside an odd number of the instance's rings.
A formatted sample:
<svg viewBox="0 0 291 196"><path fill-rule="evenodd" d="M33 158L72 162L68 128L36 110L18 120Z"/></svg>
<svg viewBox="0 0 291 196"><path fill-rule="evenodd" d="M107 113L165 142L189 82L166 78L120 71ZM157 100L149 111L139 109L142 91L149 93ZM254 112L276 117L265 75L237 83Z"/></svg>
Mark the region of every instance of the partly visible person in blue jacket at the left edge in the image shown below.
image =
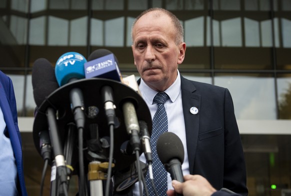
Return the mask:
<svg viewBox="0 0 291 196"><path fill-rule="evenodd" d="M27 195L11 79L0 71L0 194Z"/></svg>

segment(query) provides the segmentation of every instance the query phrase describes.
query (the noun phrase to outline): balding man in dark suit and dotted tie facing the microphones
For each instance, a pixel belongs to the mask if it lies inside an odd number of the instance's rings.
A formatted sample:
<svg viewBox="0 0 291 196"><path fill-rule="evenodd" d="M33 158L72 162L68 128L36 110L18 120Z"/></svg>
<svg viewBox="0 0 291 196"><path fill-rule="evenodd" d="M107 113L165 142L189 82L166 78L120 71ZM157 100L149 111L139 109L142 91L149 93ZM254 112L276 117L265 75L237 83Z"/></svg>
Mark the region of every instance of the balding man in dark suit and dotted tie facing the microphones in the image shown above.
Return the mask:
<svg viewBox="0 0 291 196"><path fill-rule="evenodd" d="M139 88L151 116L153 97L165 92L168 131L176 133L185 151L183 174L199 174L215 189L228 188L247 195L242 144L228 89L182 77L178 71L186 50L183 27L162 8L143 11L131 28L134 64L141 76ZM143 156L141 161L145 161ZM153 173L153 175L157 175ZM168 174L167 187L171 188ZM138 183L138 182L137 182ZM133 194L137 195L135 184ZM165 192L164 192L165 194Z"/></svg>

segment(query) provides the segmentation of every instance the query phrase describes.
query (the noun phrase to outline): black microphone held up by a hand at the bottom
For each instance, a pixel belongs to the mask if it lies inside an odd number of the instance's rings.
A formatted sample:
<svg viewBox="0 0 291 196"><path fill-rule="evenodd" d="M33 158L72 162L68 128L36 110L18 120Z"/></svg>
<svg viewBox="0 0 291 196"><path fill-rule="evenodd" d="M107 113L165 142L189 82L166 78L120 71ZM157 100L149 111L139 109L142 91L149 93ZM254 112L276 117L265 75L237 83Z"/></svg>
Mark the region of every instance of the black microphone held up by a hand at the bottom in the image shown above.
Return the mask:
<svg viewBox="0 0 291 196"><path fill-rule="evenodd" d="M184 148L180 138L172 132L162 133L156 141L156 153L171 179L183 182L181 164L184 161Z"/></svg>

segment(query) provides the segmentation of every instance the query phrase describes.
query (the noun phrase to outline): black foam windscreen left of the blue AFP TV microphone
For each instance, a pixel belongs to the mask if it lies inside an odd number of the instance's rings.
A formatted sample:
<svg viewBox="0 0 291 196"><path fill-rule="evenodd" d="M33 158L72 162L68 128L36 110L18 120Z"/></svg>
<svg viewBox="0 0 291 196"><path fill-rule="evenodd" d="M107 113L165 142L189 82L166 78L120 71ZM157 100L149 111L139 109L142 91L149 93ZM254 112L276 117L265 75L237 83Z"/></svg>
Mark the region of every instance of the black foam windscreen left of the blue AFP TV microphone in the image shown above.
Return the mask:
<svg viewBox="0 0 291 196"><path fill-rule="evenodd" d="M34 61L31 72L33 98L39 106L45 98L58 88L54 69L51 63L45 58L38 58Z"/></svg>

